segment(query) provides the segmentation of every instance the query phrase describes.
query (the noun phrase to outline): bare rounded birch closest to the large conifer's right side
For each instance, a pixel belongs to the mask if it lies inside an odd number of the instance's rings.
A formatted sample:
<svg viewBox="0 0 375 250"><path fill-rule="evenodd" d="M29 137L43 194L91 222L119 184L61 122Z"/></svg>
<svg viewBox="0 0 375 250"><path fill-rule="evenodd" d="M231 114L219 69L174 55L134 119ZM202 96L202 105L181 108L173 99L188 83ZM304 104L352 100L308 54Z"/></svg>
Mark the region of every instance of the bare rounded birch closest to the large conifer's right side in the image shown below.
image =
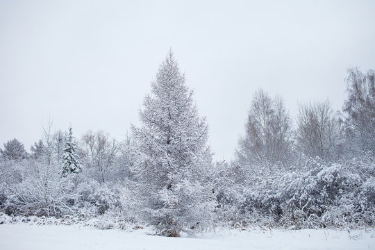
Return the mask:
<svg viewBox="0 0 375 250"><path fill-rule="evenodd" d="M288 167L292 158L290 118L281 98L271 99L263 90L254 94L245 135L235 156L240 165L255 174L260 169Z"/></svg>

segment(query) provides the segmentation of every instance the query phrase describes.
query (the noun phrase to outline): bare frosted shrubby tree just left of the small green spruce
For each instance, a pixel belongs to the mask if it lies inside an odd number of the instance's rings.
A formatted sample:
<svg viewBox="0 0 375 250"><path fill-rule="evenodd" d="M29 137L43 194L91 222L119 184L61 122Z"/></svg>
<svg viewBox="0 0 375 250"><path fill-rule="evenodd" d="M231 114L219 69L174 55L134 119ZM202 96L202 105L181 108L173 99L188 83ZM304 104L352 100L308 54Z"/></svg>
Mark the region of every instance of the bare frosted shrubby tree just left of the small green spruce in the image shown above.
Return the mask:
<svg viewBox="0 0 375 250"><path fill-rule="evenodd" d="M74 176L62 176L62 162L52 126L49 122L43 127L42 140L35 144L27 167L22 167L22 183L10 187L10 213L40 216L73 213L68 205L75 197Z"/></svg>

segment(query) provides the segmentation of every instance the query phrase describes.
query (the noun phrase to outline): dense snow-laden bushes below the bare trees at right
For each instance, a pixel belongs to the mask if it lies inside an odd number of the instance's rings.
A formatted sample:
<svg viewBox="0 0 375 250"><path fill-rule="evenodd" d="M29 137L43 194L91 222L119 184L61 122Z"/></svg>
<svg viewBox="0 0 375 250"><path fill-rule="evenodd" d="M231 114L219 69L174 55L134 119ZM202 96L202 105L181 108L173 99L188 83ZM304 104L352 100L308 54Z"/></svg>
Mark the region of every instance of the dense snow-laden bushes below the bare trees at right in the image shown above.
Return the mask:
<svg viewBox="0 0 375 250"><path fill-rule="evenodd" d="M372 226L372 171L374 159L368 155L337 163L313 158L299 170L251 183L244 189L242 203L233 203L239 200L238 192L219 197L219 203L231 211L233 216L226 219L232 219L232 224L285 228Z"/></svg>

